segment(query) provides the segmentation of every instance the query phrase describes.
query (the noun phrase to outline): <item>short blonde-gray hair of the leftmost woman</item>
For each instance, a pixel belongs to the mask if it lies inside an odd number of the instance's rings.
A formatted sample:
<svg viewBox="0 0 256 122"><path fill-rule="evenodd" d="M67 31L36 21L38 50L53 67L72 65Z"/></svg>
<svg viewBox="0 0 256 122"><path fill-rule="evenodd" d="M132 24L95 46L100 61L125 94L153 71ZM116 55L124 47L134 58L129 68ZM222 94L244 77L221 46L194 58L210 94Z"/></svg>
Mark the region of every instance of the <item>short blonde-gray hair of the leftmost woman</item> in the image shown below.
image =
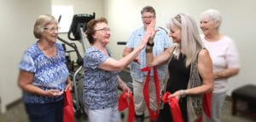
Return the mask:
<svg viewBox="0 0 256 122"><path fill-rule="evenodd" d="M34 36L35 38L42 38L42 33L44 32L44 27L50 23L55 23L58 25L57 20L52 15L39 15L34 24Z"/></svg>

